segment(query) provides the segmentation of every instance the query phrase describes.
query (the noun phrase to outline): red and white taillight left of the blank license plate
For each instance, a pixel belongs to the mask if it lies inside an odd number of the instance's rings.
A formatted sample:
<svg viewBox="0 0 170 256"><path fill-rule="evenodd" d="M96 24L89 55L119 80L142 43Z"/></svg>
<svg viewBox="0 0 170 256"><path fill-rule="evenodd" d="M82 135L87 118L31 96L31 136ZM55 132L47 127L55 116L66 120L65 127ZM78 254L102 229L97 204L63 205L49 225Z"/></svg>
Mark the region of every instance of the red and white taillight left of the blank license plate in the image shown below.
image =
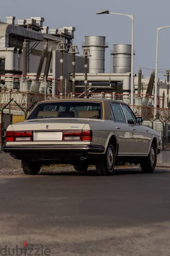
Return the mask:
<svg viewBox="0 0 170 256"><path fill-rule="evenodd" d="M6 141L32 141L32 131L6 132Z"/></svg>

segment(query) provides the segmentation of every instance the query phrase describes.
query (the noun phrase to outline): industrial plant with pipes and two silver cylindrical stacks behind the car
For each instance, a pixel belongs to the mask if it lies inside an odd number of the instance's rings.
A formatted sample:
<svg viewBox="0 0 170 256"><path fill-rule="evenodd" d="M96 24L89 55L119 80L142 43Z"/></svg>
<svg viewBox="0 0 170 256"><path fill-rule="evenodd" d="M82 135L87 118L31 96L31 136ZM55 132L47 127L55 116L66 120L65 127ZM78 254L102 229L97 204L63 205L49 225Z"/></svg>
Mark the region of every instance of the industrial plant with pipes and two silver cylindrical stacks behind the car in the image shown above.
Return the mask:
<svg viewBox="0 0 170 256"><path fill-rule="evenodd" d="M75 27L49 28L43 23L43 17L16 22L14 16L7 16L6 22L0 21L1 144L5 128L24 120L39 100L102 97L130 104L136 115L143 116L144 125L159 132L162 149L168 148L170 70L165 80L158 78L157 108L153 108L155 71L144 78L138 67L138 74L131 74L131 58L137 54L131 45L113 42L107 60L110 73L106 73L105 36L85 36L79 47L73 44Z"/></svg>

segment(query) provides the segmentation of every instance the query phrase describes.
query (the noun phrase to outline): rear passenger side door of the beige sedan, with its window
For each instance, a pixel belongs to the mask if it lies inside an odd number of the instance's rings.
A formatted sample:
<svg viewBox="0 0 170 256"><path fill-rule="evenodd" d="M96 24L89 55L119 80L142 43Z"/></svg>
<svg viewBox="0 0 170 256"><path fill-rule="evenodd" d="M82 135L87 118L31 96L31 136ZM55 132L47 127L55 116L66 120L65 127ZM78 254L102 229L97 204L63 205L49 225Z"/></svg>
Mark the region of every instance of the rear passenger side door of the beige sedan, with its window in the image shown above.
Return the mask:
<svg viewBox="0 0 170 256"><path fill-rule="evenodd" d="M111 108L114 115L114 119L113 119L114 130L116 132L116 136L119 144L118 156L130 155L132 153L131 127L127 124L121 105L119 103L111 103Z"/></svg>

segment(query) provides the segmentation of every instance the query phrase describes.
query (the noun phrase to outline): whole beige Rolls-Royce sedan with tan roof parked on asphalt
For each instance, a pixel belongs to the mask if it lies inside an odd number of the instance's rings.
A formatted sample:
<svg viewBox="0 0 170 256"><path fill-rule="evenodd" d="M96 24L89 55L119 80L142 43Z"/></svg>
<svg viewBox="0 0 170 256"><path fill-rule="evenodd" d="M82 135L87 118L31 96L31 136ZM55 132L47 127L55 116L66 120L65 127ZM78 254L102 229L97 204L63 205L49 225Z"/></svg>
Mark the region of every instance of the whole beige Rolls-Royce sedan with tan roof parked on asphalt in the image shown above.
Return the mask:
<svg viewBox="0 0 170 256"><path fill-rule="evenodd" d="M20 159L25 174L41 164L72 164L76 171L96 165L99 175L115 164L140 164L143 172L156 166L158 133L140 125L123 102L106 99L60 99L39 102L22 123L9 125L4 152Z"/></svg>

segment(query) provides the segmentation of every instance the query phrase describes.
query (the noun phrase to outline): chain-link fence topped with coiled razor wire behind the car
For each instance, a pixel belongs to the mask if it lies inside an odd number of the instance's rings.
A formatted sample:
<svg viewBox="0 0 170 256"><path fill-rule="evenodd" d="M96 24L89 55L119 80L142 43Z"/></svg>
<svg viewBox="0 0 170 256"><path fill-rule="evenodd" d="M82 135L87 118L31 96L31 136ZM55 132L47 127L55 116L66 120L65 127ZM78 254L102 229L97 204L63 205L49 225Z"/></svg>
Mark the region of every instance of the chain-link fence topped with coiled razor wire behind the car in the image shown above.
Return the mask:
<svg viewBox="0 0 170 256"><path fill-rule="evenodd" d="M114 93L96 93L94 99L109 98L115 99L117 95ZM62 98L71 98L71 93L65 93ZM83 93L76 93L76 98L83 98ZM1 131L1 150L4 145L5 130L9 124L22 122L27 114L32 110L40 100L59 99L59 95L20 92L17 90L1 90L0 92L0 131ZM170 149L170 109L169 108L153 108L149 106L131 106L136 116L143 117L143 125L151 127L159 132L160 144L162 149Z"/></svg>

